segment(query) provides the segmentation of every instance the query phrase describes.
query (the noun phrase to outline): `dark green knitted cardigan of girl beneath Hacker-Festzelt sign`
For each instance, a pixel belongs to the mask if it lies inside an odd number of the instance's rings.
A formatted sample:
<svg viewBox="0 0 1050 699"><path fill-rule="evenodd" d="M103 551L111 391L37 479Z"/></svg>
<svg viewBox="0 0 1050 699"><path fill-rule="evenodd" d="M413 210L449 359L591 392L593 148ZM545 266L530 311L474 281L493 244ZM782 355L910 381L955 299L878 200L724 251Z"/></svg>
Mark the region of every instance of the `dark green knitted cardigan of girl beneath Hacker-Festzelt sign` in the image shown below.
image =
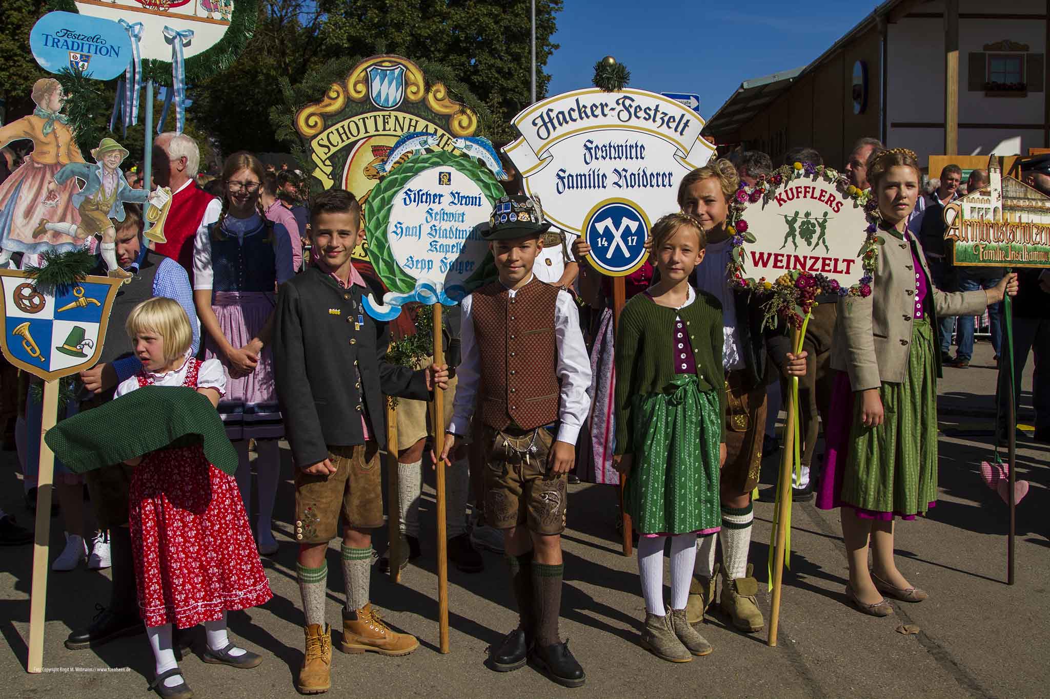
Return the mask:
<svg viewBox="0 0 1050 699"><path fill-rule="evenodd" d="M656 305L646 293L627 302L616 329L616 449L633 454L633 411L642 398L665 392L675 376L674 319L681 318L693 346L700 391L716 391L726 424L726 372L722 369L721 304L699 291L693 303L675 309ZM699 438L699 436L697 436Z"/></svg>

